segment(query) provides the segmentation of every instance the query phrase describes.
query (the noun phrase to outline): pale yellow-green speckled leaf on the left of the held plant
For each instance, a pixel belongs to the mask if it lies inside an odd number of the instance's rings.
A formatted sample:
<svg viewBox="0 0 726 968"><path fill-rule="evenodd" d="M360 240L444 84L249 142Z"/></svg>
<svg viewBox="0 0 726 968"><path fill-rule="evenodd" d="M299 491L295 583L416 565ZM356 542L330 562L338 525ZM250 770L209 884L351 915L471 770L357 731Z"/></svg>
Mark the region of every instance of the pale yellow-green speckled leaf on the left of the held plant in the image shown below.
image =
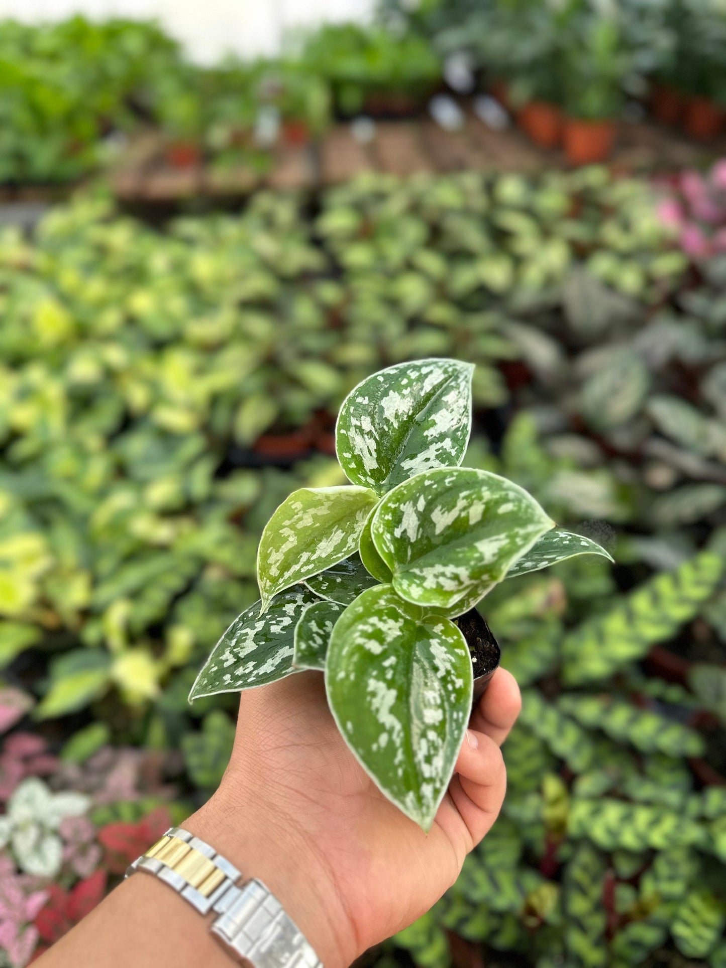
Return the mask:
<svg viewBox="0 0 726 968"><path fill-rule="evenodd" d="M301 488L278 507L259 540L257 582L262 611L274 594L305 581L358 550L377 497L364 487Z"/></svg>

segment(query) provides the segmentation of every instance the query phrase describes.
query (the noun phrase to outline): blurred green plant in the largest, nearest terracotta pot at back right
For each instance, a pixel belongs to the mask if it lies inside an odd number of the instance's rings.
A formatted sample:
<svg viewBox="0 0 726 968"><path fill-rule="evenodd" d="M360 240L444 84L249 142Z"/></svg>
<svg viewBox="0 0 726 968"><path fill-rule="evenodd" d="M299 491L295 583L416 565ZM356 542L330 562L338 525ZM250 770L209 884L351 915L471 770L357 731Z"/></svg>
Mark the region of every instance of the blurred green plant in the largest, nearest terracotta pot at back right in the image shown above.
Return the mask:
<svg viewBox="0 0 726 968"><path fill-rule="evenodd" d="M589 13L575 17L562 50L564 149L572 165L601 162L612 151L626 69L616 19Z"/></svg>

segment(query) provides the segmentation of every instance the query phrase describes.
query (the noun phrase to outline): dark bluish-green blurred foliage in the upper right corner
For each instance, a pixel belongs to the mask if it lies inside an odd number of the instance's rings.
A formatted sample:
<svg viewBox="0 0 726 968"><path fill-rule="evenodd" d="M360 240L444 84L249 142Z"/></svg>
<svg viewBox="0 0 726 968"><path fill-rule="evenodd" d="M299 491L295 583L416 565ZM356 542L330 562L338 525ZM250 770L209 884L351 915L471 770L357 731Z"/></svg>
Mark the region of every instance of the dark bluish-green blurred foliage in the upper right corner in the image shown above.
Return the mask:
<svg viewBox="0 0 726 968"><path fill-rule="evenodd" d="M620 115L653 80L726 106L721 0L381 0L383 21L506 80L512 106L545 101L573 117Z"/></svg>

